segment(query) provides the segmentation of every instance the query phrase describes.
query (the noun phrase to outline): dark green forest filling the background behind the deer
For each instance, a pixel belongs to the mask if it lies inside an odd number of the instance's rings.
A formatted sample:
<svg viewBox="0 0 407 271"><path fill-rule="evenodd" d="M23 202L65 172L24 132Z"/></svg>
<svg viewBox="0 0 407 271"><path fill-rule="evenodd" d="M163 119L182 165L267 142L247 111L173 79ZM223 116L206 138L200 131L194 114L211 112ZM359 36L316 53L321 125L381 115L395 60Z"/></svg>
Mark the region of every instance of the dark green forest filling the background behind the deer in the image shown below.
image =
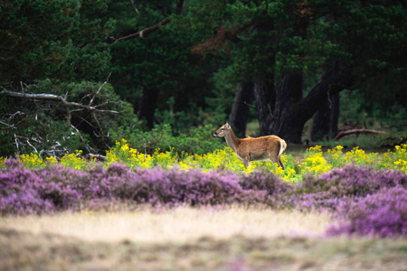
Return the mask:
<svg viewBox="0 0 407 271"><path fill-rule="evenodd" d="M404 1L0 1L0 156L407 126ZM248 128L248 124L251 126ZM253 128L252 126L257 126Z"/></svg>

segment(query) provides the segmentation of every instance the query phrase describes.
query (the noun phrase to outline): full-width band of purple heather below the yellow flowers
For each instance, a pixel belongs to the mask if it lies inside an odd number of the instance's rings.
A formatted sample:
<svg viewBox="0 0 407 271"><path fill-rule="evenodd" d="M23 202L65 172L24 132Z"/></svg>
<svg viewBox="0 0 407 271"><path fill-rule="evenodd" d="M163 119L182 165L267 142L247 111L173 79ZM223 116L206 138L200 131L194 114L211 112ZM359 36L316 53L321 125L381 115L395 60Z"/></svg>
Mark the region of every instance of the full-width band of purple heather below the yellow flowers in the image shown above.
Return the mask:
<svg viewBox="0 0 407 271"><path fill-rule="evenodd" d="M61 164L26 168L6 159L0 171L1 214L43 214L61 210L131 210L189 204L265 204L273 209L328 210L341 220L330 235L407 235L407 175L355 165L304 182L274 173L129 168L96 164L75 170Z"/></svg>

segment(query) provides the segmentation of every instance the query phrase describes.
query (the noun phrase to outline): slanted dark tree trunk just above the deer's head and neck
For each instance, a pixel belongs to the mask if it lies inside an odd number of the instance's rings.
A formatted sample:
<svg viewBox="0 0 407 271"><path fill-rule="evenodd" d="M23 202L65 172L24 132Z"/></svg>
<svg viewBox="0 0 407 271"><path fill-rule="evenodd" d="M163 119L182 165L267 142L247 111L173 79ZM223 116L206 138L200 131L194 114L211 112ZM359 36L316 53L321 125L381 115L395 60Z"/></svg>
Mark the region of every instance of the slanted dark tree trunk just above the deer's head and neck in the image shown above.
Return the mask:
<svg viewBox="0 0 407 271"><path fill-rule="evenodd" d="M249 119L249 110L254 98L254 84L248 82L243 85L234 97L231 115L229 115L229 124L236 128L236 135L246 136L246 125Z"/></svg>

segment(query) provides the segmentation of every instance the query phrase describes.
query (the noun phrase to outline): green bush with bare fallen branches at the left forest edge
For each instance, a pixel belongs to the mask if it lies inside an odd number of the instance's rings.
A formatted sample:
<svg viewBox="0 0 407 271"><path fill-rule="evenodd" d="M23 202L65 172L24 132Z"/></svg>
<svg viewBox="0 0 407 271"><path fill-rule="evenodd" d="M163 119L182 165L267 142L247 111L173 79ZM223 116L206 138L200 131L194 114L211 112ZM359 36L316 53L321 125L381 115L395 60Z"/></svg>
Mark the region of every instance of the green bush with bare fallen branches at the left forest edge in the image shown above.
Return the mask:
<svg viewBox="0 0 407 271"><path fill-rule="evenodd" d="M53 84L42 80L26 86L24 91L66 97L68 102L94 106L97 110L65 107L53 100L5 97L5 103L0 106L6 125L0 130L2 155L43 152L61 157L80 149L102 152L114 144L109 129L130 124L135 118L132 107L120 100L109 84L90 81Z"/></svg>

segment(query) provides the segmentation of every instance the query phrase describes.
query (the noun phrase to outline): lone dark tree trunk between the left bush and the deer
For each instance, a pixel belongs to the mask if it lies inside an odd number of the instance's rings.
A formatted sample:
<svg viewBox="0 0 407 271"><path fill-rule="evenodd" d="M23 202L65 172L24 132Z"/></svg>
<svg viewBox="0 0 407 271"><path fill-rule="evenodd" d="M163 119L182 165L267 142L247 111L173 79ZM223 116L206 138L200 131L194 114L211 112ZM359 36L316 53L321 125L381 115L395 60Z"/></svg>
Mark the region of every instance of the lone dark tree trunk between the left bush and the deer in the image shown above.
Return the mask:
<svg viewBox="0 0 407 271"><path fill-rule="evenodd" d="M154 127L154 113L156 111L156 102L159 90L155 88L143 87L141 91L140 107L137 117L146 119L147 126L152 129Z"/></svg>

